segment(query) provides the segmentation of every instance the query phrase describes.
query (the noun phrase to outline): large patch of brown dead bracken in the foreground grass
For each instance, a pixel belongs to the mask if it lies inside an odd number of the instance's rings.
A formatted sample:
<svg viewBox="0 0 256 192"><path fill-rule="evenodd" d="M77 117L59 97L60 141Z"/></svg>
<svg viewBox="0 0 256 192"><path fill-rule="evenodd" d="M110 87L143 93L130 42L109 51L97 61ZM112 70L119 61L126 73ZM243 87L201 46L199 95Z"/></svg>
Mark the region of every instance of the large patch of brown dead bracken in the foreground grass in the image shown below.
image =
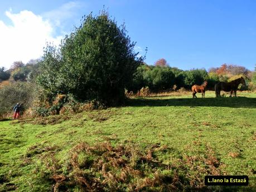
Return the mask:
<svg viewBox="0 0 256 192"><path fill-rule="evenodd" d="M81 142L69 151L66 168L63 164L51 165L58 164L54 154L48 155L54 160L42 158L42 162L51 170L49 179L55 183L54 191L63 191L64 186L81 191L183 190L186 181L181 180L177 168L163 164L153 155L160 148L156 144L144 152L131 143L113 146L105 141L91 146Z"/></svg>

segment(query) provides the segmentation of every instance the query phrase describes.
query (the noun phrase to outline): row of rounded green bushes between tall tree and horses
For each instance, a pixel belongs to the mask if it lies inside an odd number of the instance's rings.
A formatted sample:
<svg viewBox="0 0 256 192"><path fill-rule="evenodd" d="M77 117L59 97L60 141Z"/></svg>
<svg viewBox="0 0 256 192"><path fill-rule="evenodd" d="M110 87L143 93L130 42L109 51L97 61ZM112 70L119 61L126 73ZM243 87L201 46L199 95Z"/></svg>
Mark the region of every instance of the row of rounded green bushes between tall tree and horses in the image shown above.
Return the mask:
<svg viewBox="0 0 256 192"><path fill-rule="evenodd" d="M152 91L168 90L176 85L176 88L190 89L192 85L201 85L204 80L209 80L205 69L193 69L182 71L176 67L159 67L141 65L134 73L133 83L128 90L138 91L141 87L148 86ZM209 80L211 86L216 82Z"/></svg>

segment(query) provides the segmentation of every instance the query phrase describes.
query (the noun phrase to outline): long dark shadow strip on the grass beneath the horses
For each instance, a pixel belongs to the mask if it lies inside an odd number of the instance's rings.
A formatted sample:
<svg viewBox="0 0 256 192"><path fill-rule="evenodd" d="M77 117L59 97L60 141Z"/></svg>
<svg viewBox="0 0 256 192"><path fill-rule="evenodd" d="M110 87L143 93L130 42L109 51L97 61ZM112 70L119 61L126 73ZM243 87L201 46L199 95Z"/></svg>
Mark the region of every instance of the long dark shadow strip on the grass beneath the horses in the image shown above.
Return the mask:
<svg viewBox="0 0 256 192"><path fill-rule="evenodd" d="M159 97L161 98L161 97ZM250 97L218 97L218 98L173 98L156 99L156 97L144 97L129 99L127 106L209 106L209 107L235 107L255 108L256 98Z"/></svg>

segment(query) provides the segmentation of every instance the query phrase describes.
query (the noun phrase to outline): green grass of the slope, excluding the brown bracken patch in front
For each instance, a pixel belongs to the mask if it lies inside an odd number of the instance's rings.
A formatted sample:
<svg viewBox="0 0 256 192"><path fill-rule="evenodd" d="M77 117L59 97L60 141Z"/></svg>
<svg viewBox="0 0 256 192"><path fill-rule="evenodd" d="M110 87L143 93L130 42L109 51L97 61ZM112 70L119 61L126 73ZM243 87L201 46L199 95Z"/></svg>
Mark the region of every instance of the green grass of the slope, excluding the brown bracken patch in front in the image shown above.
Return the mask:
<svg viewBox="0 0 256 192"><path fill-rule="evenodd" d="M40 179L36 171L42 166L41 152L37 155L33 148L56 146L57 157L65 163L68 151L79 142L105 140L113 145L134 142L142 150L156 143L166 145L169 150L156 152L157 158L164 164L186 163L191 182L204 181L200 168L206 167L207 154L214 156L219 165L210 173L248 175L248 188L230 189L254 190L256 94L238 96L215 99L213 92L206 92L205 99L192 99L191 94L147 97L132 99L126 107L37 119L31 124L1 121L0 191L51 189L50 181Z"/></svg>

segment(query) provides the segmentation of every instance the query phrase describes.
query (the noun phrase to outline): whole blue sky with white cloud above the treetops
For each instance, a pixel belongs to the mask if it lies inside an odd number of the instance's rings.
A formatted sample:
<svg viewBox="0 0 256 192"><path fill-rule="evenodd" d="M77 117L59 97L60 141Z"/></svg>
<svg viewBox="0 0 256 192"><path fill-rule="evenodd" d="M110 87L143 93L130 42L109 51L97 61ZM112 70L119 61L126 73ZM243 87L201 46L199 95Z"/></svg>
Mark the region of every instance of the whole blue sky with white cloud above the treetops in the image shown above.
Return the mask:
<svg viewBox="0 0 256 192"><path fill-rule="evenodd" d="M82 16L98 14L103 6L119 24L125 22L128 35L137 42L136 50L143 55L148 47L148 64L165 58L170 66L183 70L207 70L223 63L254 70L256 1L236 0L0 0L4 35L0 42L6 43L0 43L6 56L2 60L0 56L0 66L38 57L46 40L58 43L80 24Z"/></svg>

